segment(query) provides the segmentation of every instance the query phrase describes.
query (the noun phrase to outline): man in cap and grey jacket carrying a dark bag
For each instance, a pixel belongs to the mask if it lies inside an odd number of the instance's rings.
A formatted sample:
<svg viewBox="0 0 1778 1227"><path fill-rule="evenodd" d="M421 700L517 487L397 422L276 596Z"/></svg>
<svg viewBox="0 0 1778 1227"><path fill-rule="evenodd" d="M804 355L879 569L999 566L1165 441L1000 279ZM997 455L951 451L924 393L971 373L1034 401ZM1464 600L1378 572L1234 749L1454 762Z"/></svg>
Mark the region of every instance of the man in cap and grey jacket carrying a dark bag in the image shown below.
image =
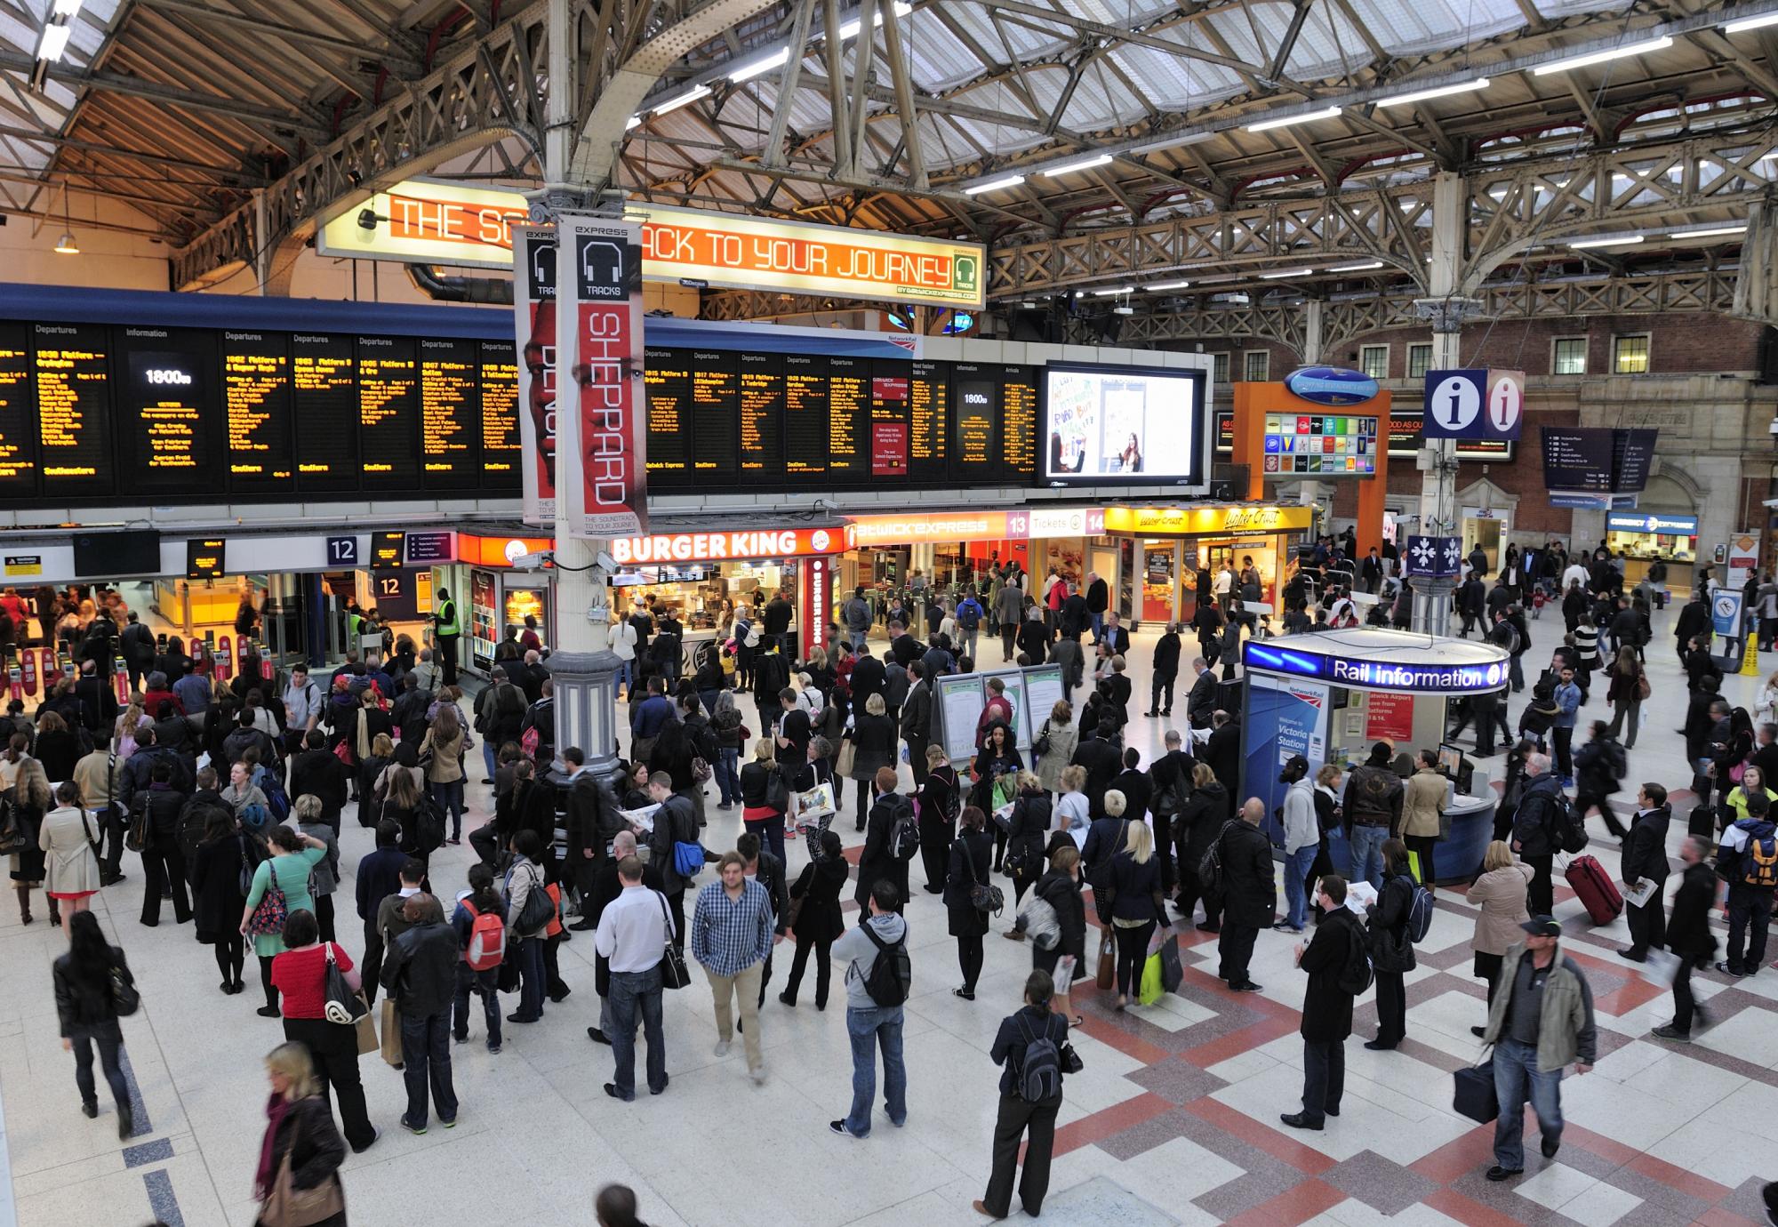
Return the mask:
<svg viewBox="0 0 1778 1227"><path fill-rule="evenodd" d="M1494 1122L1494 1167L1490 1181L1506 1181L1526 1170L1526 1099L1538 1113L1543 1158L1561 1147L1561 1071L1593 1069L1598 1031L1593 1026L1593 990L1574 958L1556 942L1561 925L1533 916L1526 939L1506 951L1501 967L1504 992L1494 996L1485 1044L1494 1044L1494 1094L1501 1115Z"/></svg>

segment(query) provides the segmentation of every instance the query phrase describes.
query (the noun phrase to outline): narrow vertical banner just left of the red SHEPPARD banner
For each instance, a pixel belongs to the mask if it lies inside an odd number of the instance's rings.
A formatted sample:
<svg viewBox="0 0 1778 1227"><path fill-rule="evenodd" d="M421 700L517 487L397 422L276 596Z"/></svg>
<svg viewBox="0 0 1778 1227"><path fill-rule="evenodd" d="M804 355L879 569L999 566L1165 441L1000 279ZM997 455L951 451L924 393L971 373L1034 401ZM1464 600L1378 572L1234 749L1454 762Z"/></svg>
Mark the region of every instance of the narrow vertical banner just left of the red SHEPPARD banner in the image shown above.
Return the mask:
<svg viewBox="0 0 1778 1227"><path fill-rule="evenodd" d="M555 525L555 226L512 228L512 306L519 345L519 468L525 523Z"/></svg>

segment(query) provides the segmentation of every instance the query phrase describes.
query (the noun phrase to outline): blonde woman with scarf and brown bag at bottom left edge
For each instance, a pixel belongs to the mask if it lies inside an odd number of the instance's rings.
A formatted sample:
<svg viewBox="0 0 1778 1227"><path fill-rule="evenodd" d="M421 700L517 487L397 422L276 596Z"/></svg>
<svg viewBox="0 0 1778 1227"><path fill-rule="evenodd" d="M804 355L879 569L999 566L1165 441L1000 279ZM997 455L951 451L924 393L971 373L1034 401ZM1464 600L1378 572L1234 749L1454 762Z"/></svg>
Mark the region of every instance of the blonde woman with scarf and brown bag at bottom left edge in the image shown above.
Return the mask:
<svg viewBox="0 0 1778 1227"><path fill-rule="evenodd" d="M320 1095L309 1049L295 1042L274 1047L265 1055L265 1079L272 1095L265 1103L265 1136L252 1175L252 1193L260 1199L256 1227L286 1222L347 1227L340 1186L345 1140ZM313 1209L300 1213L297 1206ZM300 1216L293 1218L293 1211Z"/></svg>

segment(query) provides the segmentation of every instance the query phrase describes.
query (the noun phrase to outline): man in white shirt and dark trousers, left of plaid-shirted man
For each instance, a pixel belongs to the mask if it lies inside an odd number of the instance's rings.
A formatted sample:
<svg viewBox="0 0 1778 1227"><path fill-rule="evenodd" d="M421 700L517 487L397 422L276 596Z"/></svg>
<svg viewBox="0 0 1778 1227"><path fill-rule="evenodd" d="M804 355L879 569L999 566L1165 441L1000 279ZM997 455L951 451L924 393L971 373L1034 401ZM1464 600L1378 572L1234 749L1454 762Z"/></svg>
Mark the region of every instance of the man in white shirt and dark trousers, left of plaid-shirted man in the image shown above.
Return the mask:
<svg viewBox="0 0 1778 1227"><path fill-rule="evenodd" d="M642 861L628 855L617 862L624 889L599 914L592 944L612 967L606 998L610 1026L605 1028L617 1062L605 1094L629 1103L637 1097L637 1010L649 1044L649 1094L667 1090L667 1040L661 1035L661 951L667 948L667 900L642 886Z"/></svg>

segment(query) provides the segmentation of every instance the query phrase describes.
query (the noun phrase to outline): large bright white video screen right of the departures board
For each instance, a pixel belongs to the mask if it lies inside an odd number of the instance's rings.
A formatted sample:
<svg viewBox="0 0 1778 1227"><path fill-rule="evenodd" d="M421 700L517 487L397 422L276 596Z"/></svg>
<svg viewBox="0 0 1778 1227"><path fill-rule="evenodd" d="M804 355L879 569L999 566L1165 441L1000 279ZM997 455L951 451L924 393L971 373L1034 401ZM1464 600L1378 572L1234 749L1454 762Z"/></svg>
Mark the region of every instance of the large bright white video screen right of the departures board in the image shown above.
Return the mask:
<svg viewBox="0 0 1778 1227"><path fill-rule="evenodd" d="M1205 478L1200 370L1044 368L1044 480L1053 485L1197 485Z"/></svg>

